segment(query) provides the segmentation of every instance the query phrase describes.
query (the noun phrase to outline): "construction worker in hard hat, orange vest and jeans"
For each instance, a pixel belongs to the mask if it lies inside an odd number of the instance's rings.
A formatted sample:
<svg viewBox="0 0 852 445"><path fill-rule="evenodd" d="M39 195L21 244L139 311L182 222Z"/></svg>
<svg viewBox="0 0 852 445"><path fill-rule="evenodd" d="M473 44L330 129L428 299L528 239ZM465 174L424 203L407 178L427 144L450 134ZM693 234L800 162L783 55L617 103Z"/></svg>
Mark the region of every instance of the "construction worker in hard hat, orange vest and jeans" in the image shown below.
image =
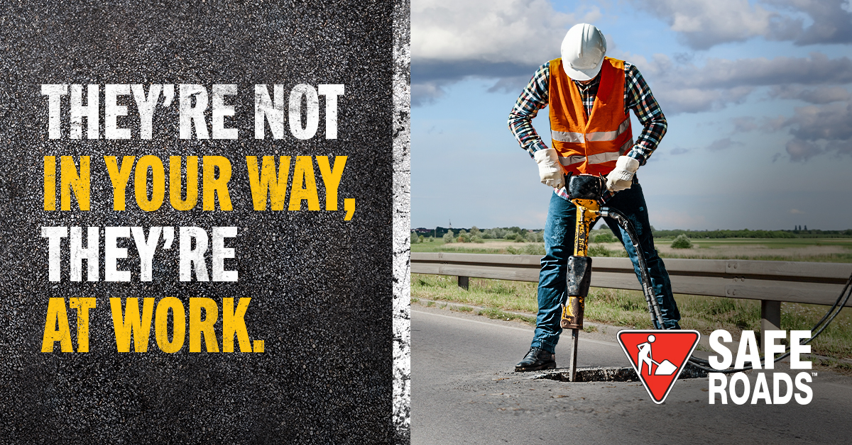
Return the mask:
<svg viewBox="0 0 852 445"><path fill-rule="evenodd" d="M606 53L607 41L596 26L573 26L562 41L562 57L538 68L509 114L509 129L538 163L541 182L554 188L544 223L533 344L515 371L556 368L554 351L562 330L561 305L567 299L567 260L573 254L577 213L565 188L567 174L606 176L604 199L626 215L639 237L664 328L680 328L680 312L663 260L653 248L648 206L636 179L636 169L648 162L665 134L665 116L636 66ZM550 106L550 148L530 122L545 106ZM629 110L643 127L635 141ZM641 281L636 250L626 232L614 220L604 220L625 245Z"/></svg>

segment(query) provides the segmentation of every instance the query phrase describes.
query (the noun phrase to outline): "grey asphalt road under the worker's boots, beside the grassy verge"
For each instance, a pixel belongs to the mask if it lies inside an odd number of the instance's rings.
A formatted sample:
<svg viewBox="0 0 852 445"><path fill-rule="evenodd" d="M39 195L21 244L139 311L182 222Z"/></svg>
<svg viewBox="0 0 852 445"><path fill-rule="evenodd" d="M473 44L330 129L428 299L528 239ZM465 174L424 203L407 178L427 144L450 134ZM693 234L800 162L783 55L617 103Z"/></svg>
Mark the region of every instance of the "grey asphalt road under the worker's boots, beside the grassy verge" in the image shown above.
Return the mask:
<svg viewBox="0 0 852 445"><path fill-rule="evenodd" d="M412 444L849 443L852 435L849 377L819 371L804 406L710 405L707 379L680 379L657 405L639 383L512 372L532 334L517 322L412 305ZM627 366L614 334L581 334L579 365Z"/></svg>

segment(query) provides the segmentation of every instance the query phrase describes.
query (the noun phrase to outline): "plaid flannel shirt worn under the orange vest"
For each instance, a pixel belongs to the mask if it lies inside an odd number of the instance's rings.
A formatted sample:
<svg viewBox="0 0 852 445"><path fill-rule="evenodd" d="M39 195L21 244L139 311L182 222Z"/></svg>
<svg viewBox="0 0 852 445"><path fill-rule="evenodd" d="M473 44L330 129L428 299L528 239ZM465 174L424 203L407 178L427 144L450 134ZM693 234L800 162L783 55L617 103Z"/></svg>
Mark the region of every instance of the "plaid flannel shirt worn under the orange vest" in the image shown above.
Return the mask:
<svg viewBox="0 0 852 445"><path fill-rule="evenodd" d="M544 145L530 121L533 117L536 117L538 110L548 106L550 99L549 80L550 62L547 62L535 71L533 78L527 84L527 88L524 88L521 96L515 101L515 107L509 113L509 129L512 134L515 134L515 140L521 144L521 148L528 151L531 157L535 151L548 148L547 145ZM600 83L600 75L586 85L574 81L579 89L580 96L583 98L587 117L595 104L597 88ZM651 88L648 88L648 83L645 83L642 74L636 69L636 66L625 62L625 114L628 116L630 115L629 110L633 110L643 128L642 134L636 139L627 156L639 161L640 165L645 165L648 162L648 157L657 149L659 141L663 139L667 124L663 111L659 109L657 100L653 99Z"/></svg>

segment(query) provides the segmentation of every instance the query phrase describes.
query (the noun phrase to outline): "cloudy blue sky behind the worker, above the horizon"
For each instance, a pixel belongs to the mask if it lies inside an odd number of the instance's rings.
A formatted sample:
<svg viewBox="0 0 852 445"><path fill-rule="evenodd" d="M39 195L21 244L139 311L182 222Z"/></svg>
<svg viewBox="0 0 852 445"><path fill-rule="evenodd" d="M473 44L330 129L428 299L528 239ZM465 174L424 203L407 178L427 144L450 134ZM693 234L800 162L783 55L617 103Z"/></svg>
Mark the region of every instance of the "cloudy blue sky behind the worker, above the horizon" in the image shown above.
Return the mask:
<svg viewBox="0 0 852 445"><path fill-rule="evenodd" d="M852 0L412 0L412 227L544 227L507 118L577 23L665 113L636 173L655 228L852 228Z"/></svg>

